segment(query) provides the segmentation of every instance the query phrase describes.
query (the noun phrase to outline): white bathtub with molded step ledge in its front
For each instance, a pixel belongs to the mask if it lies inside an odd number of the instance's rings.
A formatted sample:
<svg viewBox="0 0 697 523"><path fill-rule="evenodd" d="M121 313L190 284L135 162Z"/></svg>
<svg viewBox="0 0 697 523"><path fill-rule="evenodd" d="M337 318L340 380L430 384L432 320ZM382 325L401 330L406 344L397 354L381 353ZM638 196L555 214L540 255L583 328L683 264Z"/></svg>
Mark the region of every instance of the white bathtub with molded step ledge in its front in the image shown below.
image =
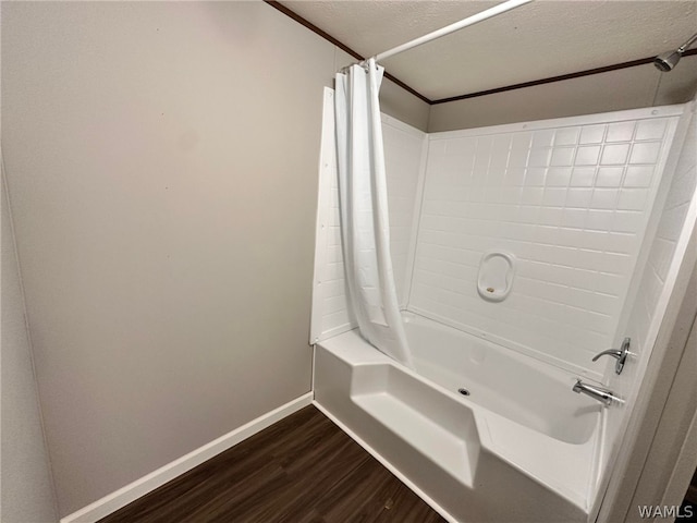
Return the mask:
<svg viewBox="0 0 697 523"><path fill-rule="evenodd" d="M576 376L403 320L414 369L344 332L316 345L315 404L448 521L586 522L604 409Z"/></svg>

